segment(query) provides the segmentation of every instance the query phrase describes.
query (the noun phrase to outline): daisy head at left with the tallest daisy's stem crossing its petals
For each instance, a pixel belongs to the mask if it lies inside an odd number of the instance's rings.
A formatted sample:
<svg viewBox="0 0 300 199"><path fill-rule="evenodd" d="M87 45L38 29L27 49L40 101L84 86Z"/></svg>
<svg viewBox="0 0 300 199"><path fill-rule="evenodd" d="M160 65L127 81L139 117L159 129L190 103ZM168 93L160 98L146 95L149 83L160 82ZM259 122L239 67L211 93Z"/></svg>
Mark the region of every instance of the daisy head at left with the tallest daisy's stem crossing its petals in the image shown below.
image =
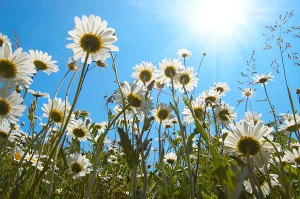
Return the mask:
<svg viewBox="0 0 300 199"><path fill-rule="evenodd" d="M51 106L53 103L53 109L51 111ZM64 111L65 111L65 118L66 116L69 114L69 111L71 109L71 105L70 103L66 101L61 101L61 98L54 98L53 101L48 98L48 103L47 104L43 104L44 107L41 107L41 109L44 111L44 113L42 114L44 117L48 118L50 116L50 119L52 121L54 121L56 123L57 126L60 126L63 120L63 115L64 115ZM71 113L71 118L69 120L69 125L73 125L72 120L74 119L74 114Z"/></svg>

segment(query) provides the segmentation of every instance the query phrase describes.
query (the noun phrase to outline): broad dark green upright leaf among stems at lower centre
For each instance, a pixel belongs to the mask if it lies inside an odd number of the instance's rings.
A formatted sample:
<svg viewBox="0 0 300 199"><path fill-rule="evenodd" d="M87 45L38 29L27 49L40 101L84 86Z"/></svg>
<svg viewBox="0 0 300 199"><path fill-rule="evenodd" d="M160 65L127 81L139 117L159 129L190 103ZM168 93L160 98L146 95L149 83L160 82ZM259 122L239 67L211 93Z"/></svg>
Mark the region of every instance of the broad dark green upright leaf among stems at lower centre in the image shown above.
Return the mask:
<svg viewBox="0 0 300 199"><path fill-rule="evenodd" d="M122 146L123 152L125 153L127 163L132 168L133 165L138 164L138 156L134 152L130 139L128 135L125 133L124 129L117 128L117 132L119 133L120 136L120 145Z"/></svg>

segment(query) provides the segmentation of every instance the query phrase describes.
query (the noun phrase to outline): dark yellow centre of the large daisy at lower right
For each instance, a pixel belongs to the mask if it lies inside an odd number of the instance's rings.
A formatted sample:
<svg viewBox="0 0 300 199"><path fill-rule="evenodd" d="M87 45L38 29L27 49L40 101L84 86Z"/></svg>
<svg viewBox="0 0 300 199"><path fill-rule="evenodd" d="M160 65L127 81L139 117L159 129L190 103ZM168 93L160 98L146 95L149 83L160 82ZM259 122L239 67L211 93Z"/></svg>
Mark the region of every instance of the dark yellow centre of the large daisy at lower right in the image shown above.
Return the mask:
<svg viewBox="0 0 300 199"><path fill-rule="evenodd" d="M254 137L243 136L237 142L236 149L244 156L247 155L247 151L249 152L249 155L255 155L259 151L259 146L259 141Z"/></svg>

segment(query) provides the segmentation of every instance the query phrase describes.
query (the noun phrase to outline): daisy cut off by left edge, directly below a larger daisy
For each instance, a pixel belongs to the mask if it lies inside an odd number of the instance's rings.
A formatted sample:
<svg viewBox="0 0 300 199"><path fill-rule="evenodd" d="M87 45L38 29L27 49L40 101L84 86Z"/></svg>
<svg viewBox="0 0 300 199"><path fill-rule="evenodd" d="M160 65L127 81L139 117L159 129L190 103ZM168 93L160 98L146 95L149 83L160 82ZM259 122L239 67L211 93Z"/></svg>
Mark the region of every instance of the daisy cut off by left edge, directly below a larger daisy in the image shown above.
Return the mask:
<svg viewBox="0 0 300 199"><path fill-rule="evenodd" d="M17 122L16 116L22 116L26 106L19 104L23 101L20 93L12 91L5 87L0 88L0 123Z"/></svg>

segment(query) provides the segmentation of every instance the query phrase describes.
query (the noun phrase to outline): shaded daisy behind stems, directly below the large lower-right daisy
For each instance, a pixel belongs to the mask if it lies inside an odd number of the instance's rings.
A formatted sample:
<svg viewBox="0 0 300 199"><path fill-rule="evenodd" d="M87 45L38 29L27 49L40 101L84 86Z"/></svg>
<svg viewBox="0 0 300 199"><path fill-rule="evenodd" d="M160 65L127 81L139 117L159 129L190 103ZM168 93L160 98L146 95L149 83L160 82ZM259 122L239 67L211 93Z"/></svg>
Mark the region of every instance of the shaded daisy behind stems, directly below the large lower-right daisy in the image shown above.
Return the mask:
<svg viewBox="0 0 300 199"><path fill-rule="evenodd" d="M260 172L256 171L256 169L255 169L254 173L256 173L256 177L258 179L258 183L259 183L260 188L261 188L261 190L262 190L262 192L263 192L263 194L265 196L265 195L268 195L270 193L269 185L268 185L267 181L265 180L268 176L266 175L266 173L264 171L264 168L259 168L259 170L260 170L261 173L263 173L263 175L261 175ZM271 182L272 186L279 185L277 183L277 180L276 180L276 178L279 177L277 174L269 173L268 175L270 177L270 182ZM250 180L249 179L244 180L243 185L245 186L245 189L246 189L247 192L249 192L249 193L252 192L252 186L250 184ZM257 189L256 185L255 185L255 187Z"/></svg>

